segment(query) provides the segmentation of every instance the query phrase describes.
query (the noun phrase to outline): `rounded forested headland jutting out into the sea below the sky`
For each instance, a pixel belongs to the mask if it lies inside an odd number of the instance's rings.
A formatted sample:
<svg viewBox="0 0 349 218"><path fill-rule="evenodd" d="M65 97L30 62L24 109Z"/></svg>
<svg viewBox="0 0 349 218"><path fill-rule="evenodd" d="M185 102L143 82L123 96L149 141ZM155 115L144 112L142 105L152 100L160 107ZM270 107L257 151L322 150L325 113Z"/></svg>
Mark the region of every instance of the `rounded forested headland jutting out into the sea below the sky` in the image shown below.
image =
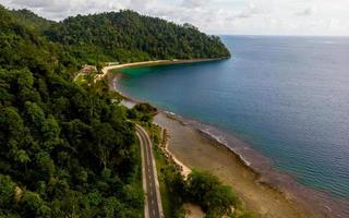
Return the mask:
<svg viewBox="0 0 349 218"><path fill-rule="evenodd" d="M45 34L73 51L88 52L95 60L132 62L230 56L218 37L207 36L192 25L177 25L129 10L69 17ZM84 53L81 57L88 60Z"/></svg>

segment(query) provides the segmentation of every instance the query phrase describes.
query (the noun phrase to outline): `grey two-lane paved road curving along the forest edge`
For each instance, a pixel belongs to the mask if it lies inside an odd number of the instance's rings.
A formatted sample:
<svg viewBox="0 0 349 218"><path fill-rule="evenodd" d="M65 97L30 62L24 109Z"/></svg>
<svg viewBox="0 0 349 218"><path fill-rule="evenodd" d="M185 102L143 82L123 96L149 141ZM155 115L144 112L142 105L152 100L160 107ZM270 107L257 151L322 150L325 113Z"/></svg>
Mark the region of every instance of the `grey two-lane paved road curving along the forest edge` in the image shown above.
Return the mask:
<svg viewBox="0 0 349 218"><path fill-rule="evenodd" d="M164 213L152 141L147 132L140 125L136 125L136 134L140 138L142 149L143 189L146 194L144 208L145 218L163 218Z"/></svg>

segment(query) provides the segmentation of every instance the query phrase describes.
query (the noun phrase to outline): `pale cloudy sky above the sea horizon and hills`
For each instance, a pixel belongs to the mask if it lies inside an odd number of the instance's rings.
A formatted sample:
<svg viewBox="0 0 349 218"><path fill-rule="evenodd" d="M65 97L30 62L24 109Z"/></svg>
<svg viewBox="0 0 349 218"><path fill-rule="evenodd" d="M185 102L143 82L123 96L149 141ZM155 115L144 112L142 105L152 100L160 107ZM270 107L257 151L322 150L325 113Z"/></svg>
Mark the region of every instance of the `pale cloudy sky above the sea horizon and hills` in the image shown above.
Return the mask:
<svg viewBox="0 0 349 218"><path fill-rule="evenodd" d="M0 0L55 21L131 9L216 35L349 36L349 0Z"/></svg>

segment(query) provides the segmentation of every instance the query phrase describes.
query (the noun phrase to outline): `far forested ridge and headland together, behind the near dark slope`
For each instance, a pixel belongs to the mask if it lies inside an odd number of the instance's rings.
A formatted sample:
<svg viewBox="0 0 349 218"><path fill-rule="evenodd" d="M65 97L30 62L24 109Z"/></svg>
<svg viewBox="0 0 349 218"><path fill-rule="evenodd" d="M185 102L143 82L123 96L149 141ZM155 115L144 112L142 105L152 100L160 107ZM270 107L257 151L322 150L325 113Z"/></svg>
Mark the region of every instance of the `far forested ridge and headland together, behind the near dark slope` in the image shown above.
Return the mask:
<svg viewBox="0 0 349 218"><path fill-rule="evenodd" d="M25 31L19 28L26 32L26 37L36 35L31 39L45 40L40 46L50 46L49 50L60 55L58 59L70 70L76 71L73 68L85 63L100 65L108 61L230 57L217 36L201 33L191 24L179 25L130 10L77 15L62 22L46 20L25 9L8 11L2 7L2 11L11 13L12 25L25 27ZM10 23L2 21L3 25Z"/></svg>

